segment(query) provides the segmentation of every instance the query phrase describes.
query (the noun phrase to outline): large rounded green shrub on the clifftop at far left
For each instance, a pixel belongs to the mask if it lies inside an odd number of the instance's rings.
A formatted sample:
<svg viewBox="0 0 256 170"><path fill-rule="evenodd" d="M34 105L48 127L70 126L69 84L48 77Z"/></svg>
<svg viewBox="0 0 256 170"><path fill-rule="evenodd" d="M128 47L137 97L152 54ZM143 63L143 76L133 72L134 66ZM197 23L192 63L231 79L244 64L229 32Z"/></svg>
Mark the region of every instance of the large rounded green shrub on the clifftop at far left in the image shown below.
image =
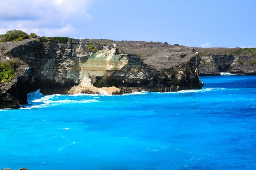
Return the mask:
<svg viewBox="0 0 256 170"><path fill-rule="evenodd" d="M20 40L20 38L22 38L22 40L28 39L29 35L27 35L27 33L23 32L21 30L13 29L11 31L7 31L6 34L3 35L0 42L16 41L17 39Z"/></svg>

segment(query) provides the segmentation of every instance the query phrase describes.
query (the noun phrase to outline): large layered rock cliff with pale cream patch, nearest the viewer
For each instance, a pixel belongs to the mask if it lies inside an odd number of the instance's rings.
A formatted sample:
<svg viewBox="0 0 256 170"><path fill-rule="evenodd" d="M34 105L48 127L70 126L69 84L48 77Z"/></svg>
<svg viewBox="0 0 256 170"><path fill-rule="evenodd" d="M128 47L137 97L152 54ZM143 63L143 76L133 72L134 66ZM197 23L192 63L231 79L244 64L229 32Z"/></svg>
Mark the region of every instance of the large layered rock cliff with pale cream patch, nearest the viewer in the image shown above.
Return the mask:
<svg viewBox="0 0 256 170"><path fill-rule="evenodd" d="M19 60L14 78L0 87L0 108L27 104L27 93L38 88L49 95L202 88L200 57L191 47L165 46L143 57L119 51L116 44L43 37L0 43L0 48L1 62Z"/></svg>

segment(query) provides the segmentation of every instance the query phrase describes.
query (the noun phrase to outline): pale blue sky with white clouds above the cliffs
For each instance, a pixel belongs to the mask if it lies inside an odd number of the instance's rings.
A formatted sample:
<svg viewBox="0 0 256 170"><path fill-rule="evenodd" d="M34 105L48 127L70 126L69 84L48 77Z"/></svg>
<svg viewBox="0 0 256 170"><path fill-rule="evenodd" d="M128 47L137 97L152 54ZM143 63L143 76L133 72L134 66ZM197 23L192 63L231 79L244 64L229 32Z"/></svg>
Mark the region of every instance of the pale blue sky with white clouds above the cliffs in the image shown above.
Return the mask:
<svg viewBox="0 0 256 170"><path fill-rule="evenodd" d="M256 47L256 0L0 0L0 34Z"/></svg>

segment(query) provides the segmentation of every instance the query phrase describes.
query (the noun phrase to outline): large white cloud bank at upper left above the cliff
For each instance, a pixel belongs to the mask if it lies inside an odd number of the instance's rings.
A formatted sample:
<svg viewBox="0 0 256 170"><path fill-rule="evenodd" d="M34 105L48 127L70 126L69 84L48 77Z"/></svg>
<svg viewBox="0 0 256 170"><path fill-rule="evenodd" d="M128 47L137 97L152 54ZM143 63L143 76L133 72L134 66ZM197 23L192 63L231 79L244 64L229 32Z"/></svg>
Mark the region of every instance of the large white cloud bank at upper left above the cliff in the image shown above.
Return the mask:
<svg viewBox="0 0 256 170"><path fill-rule="evenodd" d="M0 0L0 34L11 29L67 36L92 18L92 0Z"/></svg>

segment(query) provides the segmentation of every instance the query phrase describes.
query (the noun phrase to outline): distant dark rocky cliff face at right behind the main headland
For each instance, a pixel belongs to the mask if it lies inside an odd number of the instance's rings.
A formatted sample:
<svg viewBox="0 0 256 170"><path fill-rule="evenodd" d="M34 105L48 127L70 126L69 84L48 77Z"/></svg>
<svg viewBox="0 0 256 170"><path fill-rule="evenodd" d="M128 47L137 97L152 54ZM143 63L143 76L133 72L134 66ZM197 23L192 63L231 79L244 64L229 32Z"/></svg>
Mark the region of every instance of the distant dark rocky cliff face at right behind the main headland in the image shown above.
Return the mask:
<svg viewBox="0 0 256 170"><path fill-rule="evenodd" d="M220 75L221 72L256 75L256 56L208 55L200 57L200 75Z"/></svg>

